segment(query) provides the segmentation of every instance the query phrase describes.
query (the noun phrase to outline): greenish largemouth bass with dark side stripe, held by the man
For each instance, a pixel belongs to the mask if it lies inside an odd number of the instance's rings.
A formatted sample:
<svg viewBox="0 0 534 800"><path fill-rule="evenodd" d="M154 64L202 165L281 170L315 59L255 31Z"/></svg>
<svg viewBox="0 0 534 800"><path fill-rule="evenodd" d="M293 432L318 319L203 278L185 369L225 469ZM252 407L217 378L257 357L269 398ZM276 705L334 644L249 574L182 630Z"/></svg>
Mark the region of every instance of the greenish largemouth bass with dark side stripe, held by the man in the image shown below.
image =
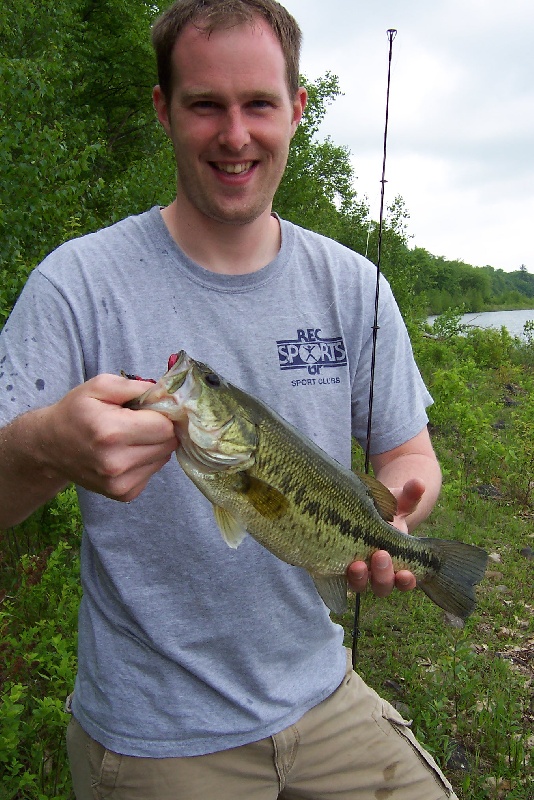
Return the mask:
<svg viewBox="0 0 534 800"><path fill-rule="evenodd" d="M123 373L124 374L124 373ZM394 527L396 499L370 475L339 464L262 400L184 350L126 407L173 421L178 462L211 502L224 541L247 535L308 571L326 606L347 608L347 567L387 550L440 608L466 619L488 555L460 541L411 536Z"/></svg>

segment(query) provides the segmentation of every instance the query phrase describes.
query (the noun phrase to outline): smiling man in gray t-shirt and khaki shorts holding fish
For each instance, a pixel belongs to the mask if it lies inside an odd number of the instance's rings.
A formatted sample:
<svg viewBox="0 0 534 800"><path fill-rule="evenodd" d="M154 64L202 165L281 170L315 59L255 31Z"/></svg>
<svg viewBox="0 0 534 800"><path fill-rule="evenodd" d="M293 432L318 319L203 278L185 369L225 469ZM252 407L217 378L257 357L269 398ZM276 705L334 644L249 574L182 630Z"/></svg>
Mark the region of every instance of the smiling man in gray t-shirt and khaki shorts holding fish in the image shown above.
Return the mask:
<svg viewBox="0 0 534 800"><path fill-rule="evenodd" d="M252 540L230 551L170 461L172 424L122 407L146 387L121 368L157 377L183 348L340 462L366 425L373 269L272 213L306 103L298 26L273 0L178 0L153 40L176 199L49 256L1 340L0 524L79 487L76 796L451 797L407 724L346 668L309 576ZM440 471L385 283L380 326L372 463L411 530ZM363 590L366 565L349 578ZM415 579L380 552L371 583L386 595Z"/></svg>

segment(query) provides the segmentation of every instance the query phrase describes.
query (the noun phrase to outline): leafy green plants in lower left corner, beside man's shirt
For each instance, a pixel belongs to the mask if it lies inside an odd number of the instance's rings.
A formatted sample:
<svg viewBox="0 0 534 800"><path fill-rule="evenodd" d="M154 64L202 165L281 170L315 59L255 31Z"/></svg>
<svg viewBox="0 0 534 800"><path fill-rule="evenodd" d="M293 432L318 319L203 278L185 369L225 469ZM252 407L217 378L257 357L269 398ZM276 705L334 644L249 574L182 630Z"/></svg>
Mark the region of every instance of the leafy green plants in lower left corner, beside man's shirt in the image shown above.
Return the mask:
<svg viewBox="0 0 534 800"><path fill-rule="evenodd" d="M76 674L79 528L69 490L0 540L9 567L0 604L2 800L71 796L63 709Z"/></svg>

